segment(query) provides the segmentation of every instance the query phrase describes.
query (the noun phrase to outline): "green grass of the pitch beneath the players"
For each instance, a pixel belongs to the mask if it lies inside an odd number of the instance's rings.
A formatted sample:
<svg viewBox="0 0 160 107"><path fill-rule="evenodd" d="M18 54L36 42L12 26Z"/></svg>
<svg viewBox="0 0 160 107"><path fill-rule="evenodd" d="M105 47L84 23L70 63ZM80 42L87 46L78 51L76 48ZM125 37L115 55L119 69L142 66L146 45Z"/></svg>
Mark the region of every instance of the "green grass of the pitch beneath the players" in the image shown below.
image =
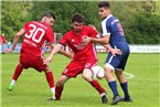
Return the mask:
<svg viewBox="0 0 160 107"><path fill-rule="evenodd" d="M46 54L47 55L47 54ZM98 65L104 65L106 54L98 54ZM160 107L159 54L130 54L126 71L135 77L128 78L129 93L134 103L119 103L116 107ZM113 93L105 79L99 81L107 90L109 103L100 103L98 93L82 76L70 79L64 87L62 100L49 101L51 96L44 73L25 69L12 92L8 92L14 67L19 63L19 54L1 55L1 105L2 107L110 107ZM70 60L57 54L50 66L55 82ZM129 75L126 75L129 77ZM120 95L124 95L118 84Z"/></svg>

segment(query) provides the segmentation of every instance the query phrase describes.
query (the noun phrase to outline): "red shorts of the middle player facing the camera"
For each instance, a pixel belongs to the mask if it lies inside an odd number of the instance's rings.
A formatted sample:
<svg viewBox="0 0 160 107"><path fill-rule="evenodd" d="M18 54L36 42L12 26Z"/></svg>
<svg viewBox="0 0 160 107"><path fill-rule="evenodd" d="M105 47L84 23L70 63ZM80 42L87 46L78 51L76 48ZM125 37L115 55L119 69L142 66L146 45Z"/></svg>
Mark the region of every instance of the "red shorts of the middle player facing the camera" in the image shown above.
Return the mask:
<svg viewBox="0 0 160 107"><path fill-rule="evenodd" d="M78 74L81 74L84 71L84 68L92 68L96 64L97 64L97 60L72 61L63 71L62 75L66 75L68 77L76 77Z"/></svg>

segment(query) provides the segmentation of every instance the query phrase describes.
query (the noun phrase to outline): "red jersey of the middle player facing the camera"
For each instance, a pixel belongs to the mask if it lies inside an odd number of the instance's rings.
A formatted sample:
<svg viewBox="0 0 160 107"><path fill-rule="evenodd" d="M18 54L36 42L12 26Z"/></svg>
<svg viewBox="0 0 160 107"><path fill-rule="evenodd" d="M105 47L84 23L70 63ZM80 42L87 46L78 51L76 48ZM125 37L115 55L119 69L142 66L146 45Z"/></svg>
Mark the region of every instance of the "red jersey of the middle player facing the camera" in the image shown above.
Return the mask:
<svg viewBox="0 0 160 107"><path fill-rule="evenodd" d="M78 34L76 34L72 29L60 40L61 44L67 44L73 50L73 60L97 60L97 52L94 43L89 43L86 46L82 44L82 38L86 35L96 38L97 31L95 31L92 26L83 25Z"/></svg>

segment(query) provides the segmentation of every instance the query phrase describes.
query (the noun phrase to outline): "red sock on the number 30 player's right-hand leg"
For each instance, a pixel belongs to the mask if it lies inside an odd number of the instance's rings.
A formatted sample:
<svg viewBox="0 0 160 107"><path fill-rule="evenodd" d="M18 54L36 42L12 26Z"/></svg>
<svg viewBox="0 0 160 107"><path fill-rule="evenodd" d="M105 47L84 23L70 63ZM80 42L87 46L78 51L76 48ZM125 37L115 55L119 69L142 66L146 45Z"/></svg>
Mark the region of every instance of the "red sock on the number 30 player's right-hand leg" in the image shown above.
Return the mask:
<svg viewBox="0 0 160 107"><path fill-rule="evenodd" d="M46 81L50 85L50 88L53 88L54 87L54 78L53 78L52 72L50 71L50 72L45 73L45 77L46 77Z"/></svg>

